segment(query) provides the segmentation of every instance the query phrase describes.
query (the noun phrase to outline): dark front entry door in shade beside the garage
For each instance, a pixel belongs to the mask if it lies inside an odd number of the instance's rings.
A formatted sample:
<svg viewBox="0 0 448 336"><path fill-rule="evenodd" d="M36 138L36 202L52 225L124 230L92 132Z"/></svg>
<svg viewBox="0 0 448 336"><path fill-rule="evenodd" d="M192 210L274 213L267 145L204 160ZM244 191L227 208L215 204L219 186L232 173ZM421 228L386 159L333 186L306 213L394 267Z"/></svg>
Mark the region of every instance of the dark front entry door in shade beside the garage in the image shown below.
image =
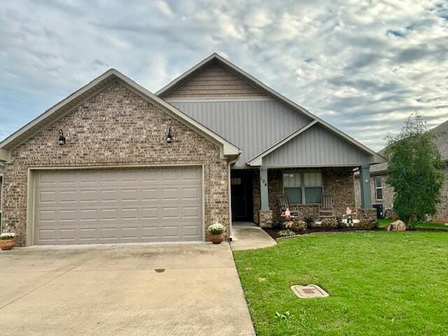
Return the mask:
<svg viewBox="0 0 448 336"><path fill-rule="evenodd" d="M253 221L252 176L250 174L232 174L232 220Z"/></svg>

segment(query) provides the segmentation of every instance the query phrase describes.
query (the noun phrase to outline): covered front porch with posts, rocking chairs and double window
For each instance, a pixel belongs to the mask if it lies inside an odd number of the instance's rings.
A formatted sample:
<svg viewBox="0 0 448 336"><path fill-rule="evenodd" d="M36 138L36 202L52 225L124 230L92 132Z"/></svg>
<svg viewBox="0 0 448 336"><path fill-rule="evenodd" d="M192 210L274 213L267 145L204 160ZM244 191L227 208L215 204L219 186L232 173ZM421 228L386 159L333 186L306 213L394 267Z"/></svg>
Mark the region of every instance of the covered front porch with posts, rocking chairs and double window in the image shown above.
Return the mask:
<svg viewBox="0 0 448 336"><path fill-rule="evenodd" d="M232 221L253 221L262 228L271 227L281 221L281 197L297 210L297 218L311 218L316 225L324 217L346 214L346 208L356 211L358 218L366 216L366 212L367 216L372 216L370 183L361 183L362 206L356 209L354 168L356 166L232 169ZM369 166L359 168L360 181L370 181ZM331 212L328 204L331 204Z"/></svg>

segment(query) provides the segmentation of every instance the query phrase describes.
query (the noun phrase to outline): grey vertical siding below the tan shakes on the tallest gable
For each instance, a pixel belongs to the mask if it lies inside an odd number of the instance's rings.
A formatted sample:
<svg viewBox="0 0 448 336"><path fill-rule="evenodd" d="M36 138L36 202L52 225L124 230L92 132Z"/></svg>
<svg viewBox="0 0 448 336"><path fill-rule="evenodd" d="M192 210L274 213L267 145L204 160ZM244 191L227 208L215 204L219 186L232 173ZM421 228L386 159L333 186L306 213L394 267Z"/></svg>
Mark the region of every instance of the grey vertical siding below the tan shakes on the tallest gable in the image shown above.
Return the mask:
<svg viewBox="0 0 448 336"><path fill-rule="evenodd" d="M237 167L311 122L274 99L171 102L186 115L241 148Z"/></svg>

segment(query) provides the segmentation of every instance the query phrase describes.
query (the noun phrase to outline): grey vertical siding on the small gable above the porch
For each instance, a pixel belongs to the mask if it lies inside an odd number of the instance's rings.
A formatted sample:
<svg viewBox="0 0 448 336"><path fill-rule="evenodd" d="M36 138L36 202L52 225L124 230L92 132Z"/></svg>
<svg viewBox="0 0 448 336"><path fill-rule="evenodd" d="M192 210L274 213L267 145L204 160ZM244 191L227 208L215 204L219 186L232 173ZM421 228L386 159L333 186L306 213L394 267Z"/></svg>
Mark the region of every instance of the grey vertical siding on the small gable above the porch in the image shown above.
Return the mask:
<svg viewBox="0 0 448 336"><path fill-rule="evenodd" d="M314 125L262 158L267 167L358 166L368 164L370 155L342 138Z"/></svg>

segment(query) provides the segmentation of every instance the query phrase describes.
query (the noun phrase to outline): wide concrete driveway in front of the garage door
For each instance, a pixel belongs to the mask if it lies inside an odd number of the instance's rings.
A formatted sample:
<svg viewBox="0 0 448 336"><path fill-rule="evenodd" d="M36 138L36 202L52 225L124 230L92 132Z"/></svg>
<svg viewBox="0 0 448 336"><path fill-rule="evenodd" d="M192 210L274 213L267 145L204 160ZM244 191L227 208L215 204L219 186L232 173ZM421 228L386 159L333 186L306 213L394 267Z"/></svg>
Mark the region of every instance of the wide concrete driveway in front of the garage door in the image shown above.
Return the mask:
<svg viewBox="0 0 448 336"><path fill-rule="evenodd" d="M0 251L10 335L255 335L229 244Z"/></svg>

